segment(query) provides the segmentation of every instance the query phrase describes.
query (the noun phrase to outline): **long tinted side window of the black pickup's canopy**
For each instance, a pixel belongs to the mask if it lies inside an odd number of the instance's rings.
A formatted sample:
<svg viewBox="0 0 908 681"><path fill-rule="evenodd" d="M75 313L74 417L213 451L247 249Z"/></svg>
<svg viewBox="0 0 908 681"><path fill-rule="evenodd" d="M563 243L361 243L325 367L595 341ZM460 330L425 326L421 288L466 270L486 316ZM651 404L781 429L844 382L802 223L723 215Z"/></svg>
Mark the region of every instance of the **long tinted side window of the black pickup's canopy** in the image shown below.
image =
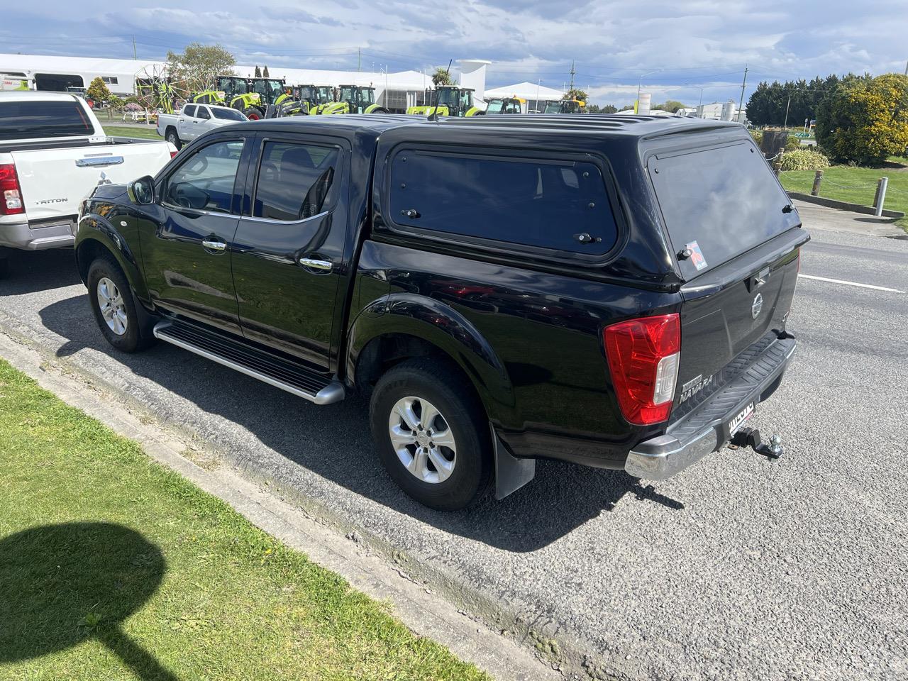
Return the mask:
<svg viewBox="0 0 908 681"><path fill-rule="evenodd" d="M400 152L390 211L401 225L558 251L601 255L617 239L602 174L585 162Z"/></svg>

